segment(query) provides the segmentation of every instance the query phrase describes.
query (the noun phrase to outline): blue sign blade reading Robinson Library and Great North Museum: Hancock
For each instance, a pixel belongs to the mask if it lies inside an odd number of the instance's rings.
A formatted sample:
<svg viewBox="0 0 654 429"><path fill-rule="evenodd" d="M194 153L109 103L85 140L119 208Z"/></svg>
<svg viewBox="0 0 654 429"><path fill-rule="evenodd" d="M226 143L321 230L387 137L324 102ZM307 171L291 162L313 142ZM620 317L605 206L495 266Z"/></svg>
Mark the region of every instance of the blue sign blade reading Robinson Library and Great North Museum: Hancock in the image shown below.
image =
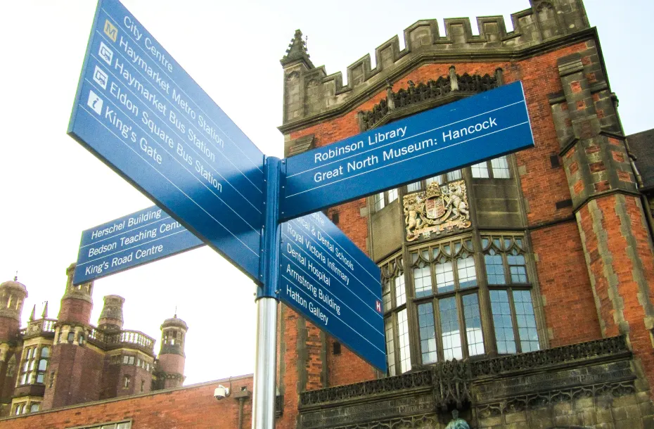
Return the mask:
<svg viewBox="0 0 654 429"><path fill-rule="evenodd" d="M286 159L280 219L534 146L515 82Z"/></svg>

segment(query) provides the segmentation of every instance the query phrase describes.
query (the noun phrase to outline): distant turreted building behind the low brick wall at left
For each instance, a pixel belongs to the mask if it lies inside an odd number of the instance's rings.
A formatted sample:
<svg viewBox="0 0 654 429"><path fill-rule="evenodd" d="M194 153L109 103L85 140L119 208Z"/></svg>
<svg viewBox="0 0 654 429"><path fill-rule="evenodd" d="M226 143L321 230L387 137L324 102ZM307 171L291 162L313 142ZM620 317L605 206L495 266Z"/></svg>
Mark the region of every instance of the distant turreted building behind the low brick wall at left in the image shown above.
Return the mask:
<svg viewBox="0 0 654 429"><path fill-rule="evenodd" d="M90 324L93 283L73 286L75 265L56 319L47 303L19 328L27 288L18 278L0 284L0 416L20 416L102 399L127 397L184 383L188 326L177 315L155 340L123 328L124 298L104 297L98 326Z"/></svg>

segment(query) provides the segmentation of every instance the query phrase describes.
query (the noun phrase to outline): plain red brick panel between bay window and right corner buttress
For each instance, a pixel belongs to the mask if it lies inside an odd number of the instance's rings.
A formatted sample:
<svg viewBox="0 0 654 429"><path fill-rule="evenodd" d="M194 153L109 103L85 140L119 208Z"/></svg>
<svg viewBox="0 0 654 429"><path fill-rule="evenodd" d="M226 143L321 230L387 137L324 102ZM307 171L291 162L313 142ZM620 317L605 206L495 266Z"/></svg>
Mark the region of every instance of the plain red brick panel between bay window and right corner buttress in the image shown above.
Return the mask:
<svg viewBox="0 0 654 429"><path fill-rule="evenodd" d="M550 346L602 338L577 224L531 234Z"/></svg>

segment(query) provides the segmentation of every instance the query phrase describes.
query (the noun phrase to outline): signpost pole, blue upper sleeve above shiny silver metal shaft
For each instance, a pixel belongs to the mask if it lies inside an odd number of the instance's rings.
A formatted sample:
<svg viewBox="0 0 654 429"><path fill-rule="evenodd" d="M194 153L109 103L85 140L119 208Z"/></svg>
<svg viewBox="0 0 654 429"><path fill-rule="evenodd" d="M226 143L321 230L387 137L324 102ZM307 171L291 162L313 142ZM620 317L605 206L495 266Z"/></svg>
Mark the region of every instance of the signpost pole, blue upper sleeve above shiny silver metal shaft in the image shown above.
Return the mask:
<svg viewBox="0 0 654 429"><path fill-rule="evenodd" d="M262 234L261 281L257 289L257 344L252 429L275 427L277 376L277 293L279 273L279 158L266 160L266 207Z"/></svg>

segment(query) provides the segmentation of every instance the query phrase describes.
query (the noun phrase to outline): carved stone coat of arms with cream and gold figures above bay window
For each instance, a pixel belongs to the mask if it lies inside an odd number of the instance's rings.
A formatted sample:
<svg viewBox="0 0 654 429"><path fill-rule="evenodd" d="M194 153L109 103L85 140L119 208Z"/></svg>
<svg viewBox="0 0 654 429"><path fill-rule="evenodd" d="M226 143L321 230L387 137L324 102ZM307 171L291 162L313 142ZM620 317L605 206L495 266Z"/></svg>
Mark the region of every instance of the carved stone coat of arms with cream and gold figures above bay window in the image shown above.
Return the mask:
<svg viewBox="0 0 654 429"><path fill-rule="evenodd" d="M416 241L421 235L429 238L469 228L468 192L466 182L452 181L440 186L432 182L423 192L403 198L406 241Z"/></svg>

